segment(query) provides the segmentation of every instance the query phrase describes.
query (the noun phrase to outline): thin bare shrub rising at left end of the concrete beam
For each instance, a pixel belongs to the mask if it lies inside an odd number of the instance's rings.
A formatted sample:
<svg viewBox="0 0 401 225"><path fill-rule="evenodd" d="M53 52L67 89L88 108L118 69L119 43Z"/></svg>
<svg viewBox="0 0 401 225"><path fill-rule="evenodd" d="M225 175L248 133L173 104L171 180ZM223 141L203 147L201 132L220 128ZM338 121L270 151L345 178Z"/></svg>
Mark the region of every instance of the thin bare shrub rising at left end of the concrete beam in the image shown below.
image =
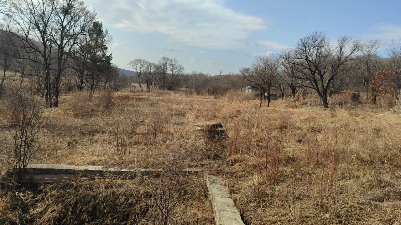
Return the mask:
<svg viewBox="0 0 401 225"><path fill-rule="evenodd" d="M10 104L12 143L6 147L8 159L18 169L18 180L22 179L24 170L32 157L40 150L39 131L44 122L41 117L45 112L43 98L21 86L11 88L7 94Z"/></svg>

